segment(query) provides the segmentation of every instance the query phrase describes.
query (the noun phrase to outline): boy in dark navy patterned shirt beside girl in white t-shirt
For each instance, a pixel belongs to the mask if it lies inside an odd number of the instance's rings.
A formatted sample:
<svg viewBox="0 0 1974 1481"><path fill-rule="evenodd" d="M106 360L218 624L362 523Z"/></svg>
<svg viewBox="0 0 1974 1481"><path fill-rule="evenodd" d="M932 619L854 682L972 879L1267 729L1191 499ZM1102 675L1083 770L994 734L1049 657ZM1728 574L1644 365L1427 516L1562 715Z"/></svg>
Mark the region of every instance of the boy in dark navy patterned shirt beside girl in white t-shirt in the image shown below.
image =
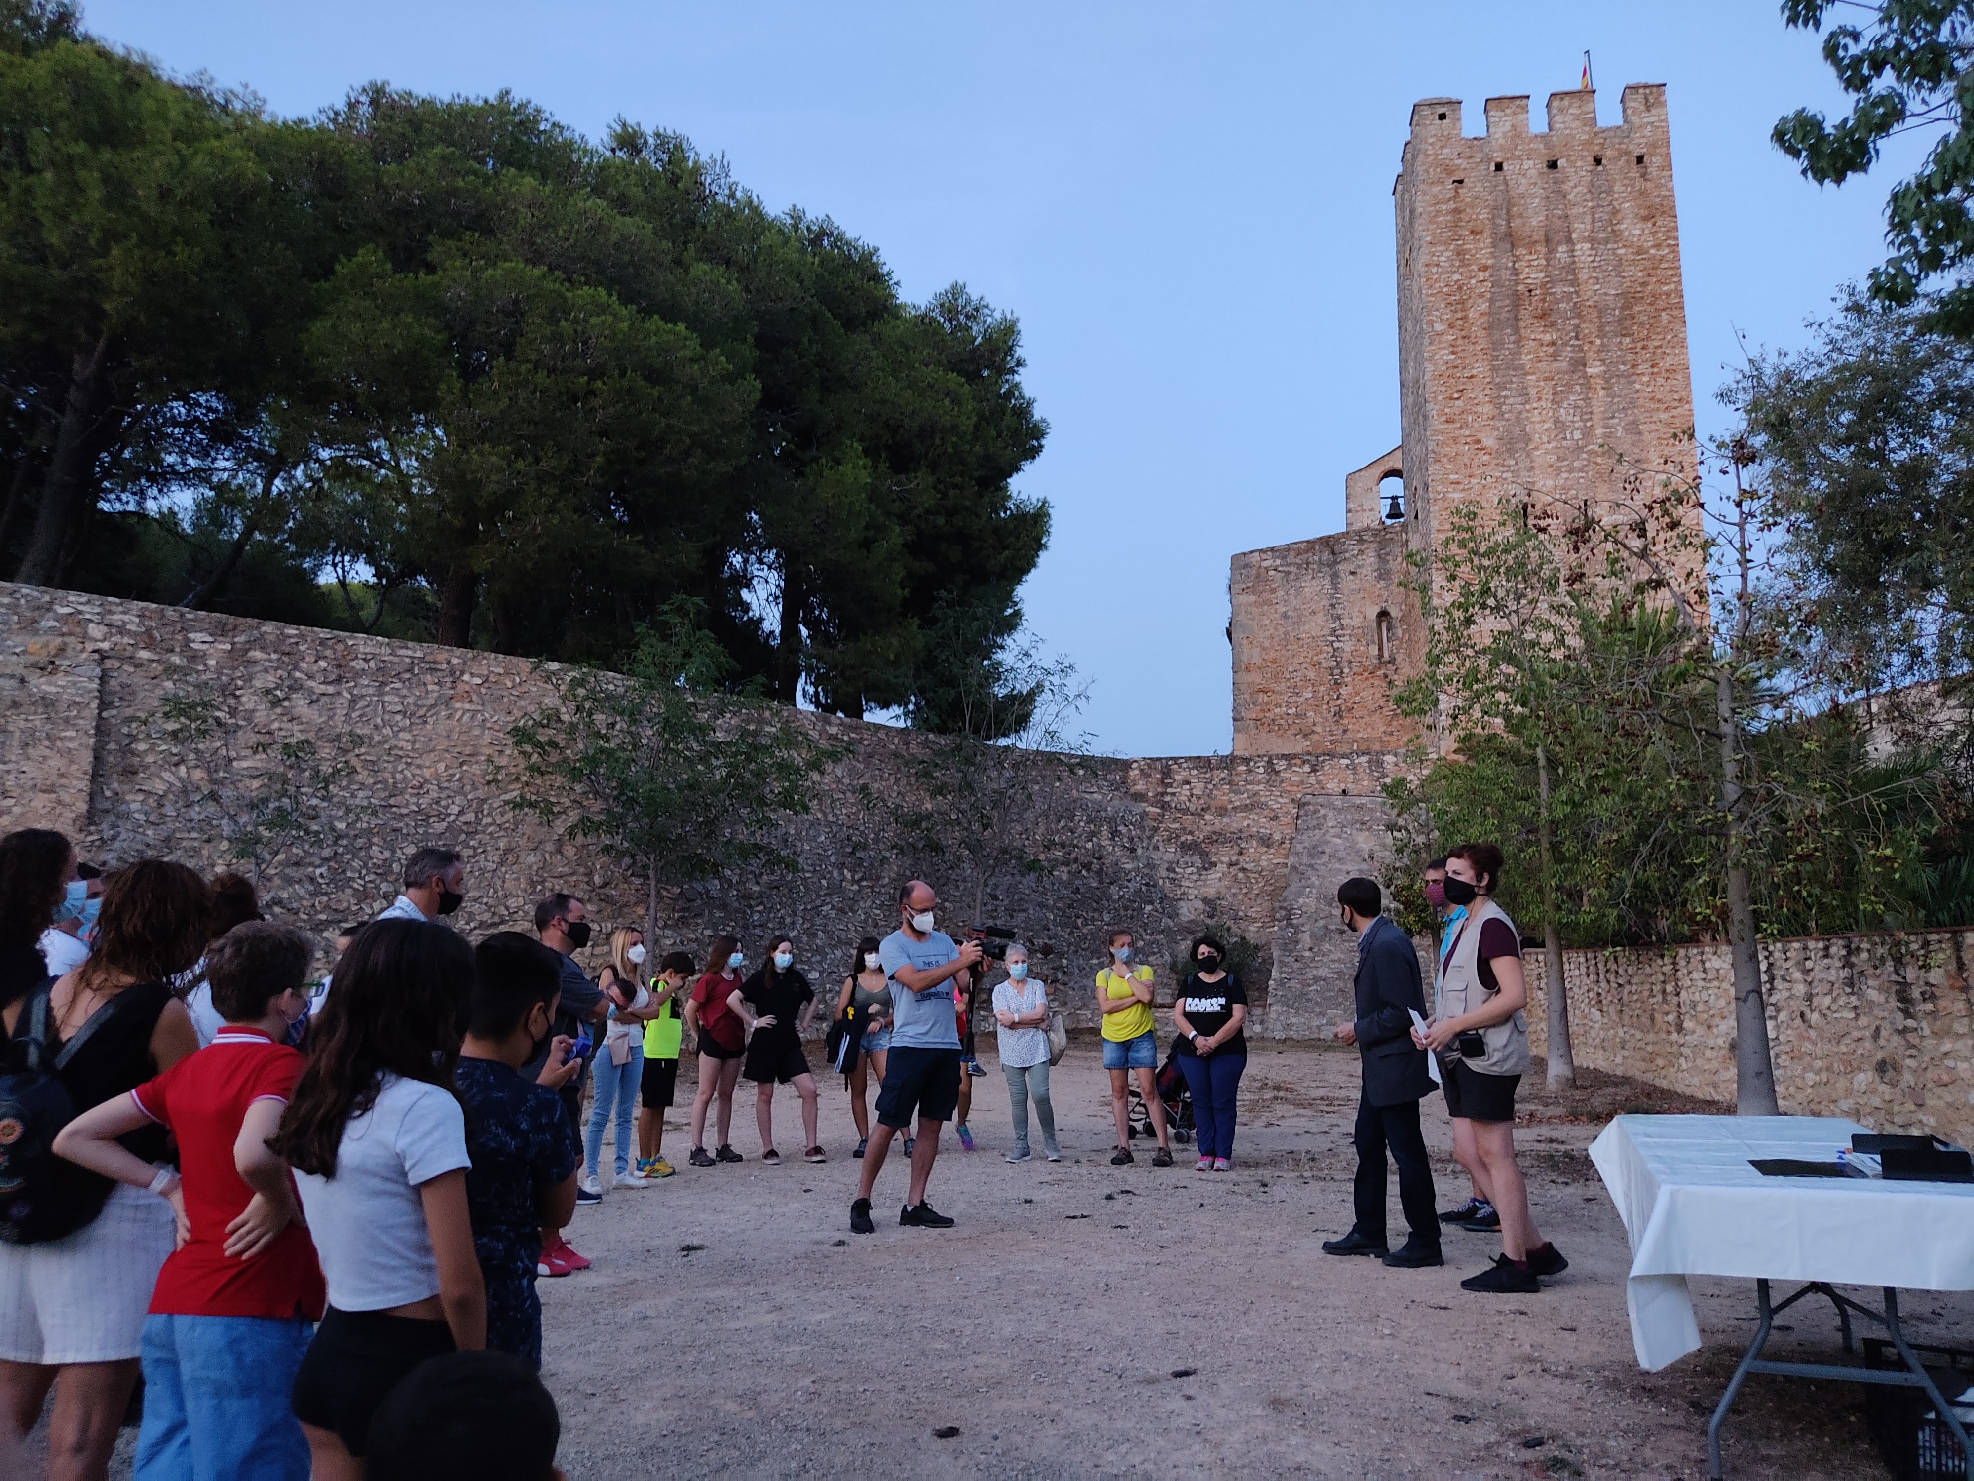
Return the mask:
<svg viewBox="0 0 1974 1481"><path fill-rule="evenodd" d="M535 1295L541 1230L576 1210L576 1153L557 1090L576 1072L570 1041L557 1037L537 1080L521 1066L555 1025L561 962L513 930L474 952L472 1017L456 1084L466 1108L466 1207L488 1287L488 1347L541 1368L541 1297Z"/></svg>

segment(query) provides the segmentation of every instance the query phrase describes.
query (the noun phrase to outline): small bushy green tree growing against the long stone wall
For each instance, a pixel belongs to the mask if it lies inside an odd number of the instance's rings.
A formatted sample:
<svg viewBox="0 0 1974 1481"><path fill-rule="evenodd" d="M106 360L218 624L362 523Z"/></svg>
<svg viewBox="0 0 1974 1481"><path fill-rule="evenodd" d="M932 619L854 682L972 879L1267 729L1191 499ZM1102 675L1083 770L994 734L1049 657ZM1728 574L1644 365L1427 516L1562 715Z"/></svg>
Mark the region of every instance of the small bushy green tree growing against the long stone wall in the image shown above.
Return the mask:
<svg viewBox="0 0 1974 1481"><path fill-rule="evenodd" d="M673 600L624 673L549 669L557 689L509 729L521 762L515 806L600 843L645 887L645 940L659 893L756 865L792 869L780 825L809 810L837 754L786 711L726 687L730 662Z"/></svg>

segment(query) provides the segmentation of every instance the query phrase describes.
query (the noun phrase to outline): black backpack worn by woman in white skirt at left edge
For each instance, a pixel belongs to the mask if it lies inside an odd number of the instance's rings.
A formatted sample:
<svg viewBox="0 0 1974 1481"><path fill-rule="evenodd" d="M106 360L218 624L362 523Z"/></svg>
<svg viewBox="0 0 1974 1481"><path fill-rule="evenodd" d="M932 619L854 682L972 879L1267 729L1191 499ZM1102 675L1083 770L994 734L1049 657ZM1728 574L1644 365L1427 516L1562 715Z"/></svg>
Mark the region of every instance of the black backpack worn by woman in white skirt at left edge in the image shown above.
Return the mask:
<svg viewBox="0 0 1974 1481"><path fill-rule="evenodd" d="M55 1133L75 1120L61 1068L116 1011L116 997L47 1052L49 977L22 1003L0 1074L0 1240L41 1244L73 1234L103 1210L101 1179L55 1155Z"/></svg>

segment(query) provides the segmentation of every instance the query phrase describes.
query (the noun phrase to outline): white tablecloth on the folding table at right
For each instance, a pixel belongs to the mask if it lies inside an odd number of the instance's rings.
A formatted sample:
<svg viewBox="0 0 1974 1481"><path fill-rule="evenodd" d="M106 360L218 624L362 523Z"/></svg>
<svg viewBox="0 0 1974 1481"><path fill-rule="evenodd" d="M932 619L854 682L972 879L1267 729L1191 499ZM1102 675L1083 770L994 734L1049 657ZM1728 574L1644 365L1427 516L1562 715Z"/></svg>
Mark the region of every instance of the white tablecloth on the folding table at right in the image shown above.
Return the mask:
<svg viewBox="0 0 1974 1481"><path fill-rule="evenodd" d="M1751 1157L1834 1161L1836 1116L1619 1116L1591 1161L1631 1234L1638 1366L1700 1347L1688 1276L1974 1289L1974 1183L1763 1177Z"/></svg>

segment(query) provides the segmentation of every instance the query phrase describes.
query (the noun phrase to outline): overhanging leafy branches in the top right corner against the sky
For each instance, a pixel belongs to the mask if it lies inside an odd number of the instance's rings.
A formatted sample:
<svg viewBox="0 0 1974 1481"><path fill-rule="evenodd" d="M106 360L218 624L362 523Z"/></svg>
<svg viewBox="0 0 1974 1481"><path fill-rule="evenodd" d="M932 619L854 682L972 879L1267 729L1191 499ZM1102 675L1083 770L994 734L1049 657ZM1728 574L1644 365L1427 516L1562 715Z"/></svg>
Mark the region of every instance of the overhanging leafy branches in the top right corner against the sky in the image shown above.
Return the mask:
<svg viewBox="0 0 1974 1481"><path fill-rule="evenodd" d="M1824 24L1840 18L1846 24ZM1824 61L1854 99L1834 124L1796 109L1775 126L1775 144L1820 186L1838 186L1877 164L1887 138L1936 130L1925 162L1893 186L1885 205L1891 257L1871 273L1871 296L1905 306L1940 286L1936 318L1974 332L1974 132L1966 117L1974 6L1966 0L1783 0L1783 22L1824 36Z"/></svg>

